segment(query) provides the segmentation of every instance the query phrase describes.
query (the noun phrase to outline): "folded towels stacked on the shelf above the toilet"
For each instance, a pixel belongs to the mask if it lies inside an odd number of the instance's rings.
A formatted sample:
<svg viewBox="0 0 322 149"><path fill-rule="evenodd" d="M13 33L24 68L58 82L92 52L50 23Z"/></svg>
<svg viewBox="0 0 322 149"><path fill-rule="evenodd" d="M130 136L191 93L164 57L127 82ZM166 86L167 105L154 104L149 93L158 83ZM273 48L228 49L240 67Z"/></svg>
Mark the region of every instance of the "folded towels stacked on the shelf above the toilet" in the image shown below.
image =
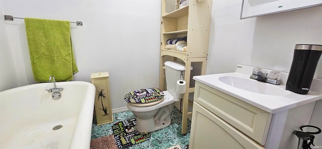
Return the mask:
<svg viewBox="0 0 322 149"><path fill-rule="evenodd" d="M187 36L167 40L165 48L187 52Z"/></svg>

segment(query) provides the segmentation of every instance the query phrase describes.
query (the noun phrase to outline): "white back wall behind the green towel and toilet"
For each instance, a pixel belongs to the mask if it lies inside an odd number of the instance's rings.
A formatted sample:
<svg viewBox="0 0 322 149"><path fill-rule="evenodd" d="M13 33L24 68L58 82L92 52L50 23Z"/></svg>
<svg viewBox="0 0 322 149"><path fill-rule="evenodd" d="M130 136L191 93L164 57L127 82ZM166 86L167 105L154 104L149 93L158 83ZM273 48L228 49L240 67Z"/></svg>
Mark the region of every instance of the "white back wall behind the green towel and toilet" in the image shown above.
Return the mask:
<svg viewBox="0 0 322 149"><path fill-rule="evenodd" d="M71 25L73 50L79 69L74 81L91 82L91 73L108 71L112 109L126 107L123 97L130 91L159 86L160 1L0 2L5 15L83 21L83 26ZM19 86L34 84L24 20L5 22L0 25L8 28L9 35L4 38L9 36L6 40L11 43ZM3 28L0 31L7 32Z"/></svg>

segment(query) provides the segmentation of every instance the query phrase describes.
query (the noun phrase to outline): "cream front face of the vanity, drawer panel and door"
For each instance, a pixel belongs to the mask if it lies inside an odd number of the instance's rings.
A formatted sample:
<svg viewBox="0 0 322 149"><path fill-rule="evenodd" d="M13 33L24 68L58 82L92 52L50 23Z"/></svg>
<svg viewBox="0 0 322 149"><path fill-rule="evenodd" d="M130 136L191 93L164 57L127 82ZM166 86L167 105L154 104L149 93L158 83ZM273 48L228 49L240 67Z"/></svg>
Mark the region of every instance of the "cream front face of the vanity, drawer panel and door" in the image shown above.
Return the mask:
<svg viewBox="0 0 322 149"><path fill-rule="evenodd" d="M264 148L272 119L271 113L199 82L192 113L189 148Z"/></svg>

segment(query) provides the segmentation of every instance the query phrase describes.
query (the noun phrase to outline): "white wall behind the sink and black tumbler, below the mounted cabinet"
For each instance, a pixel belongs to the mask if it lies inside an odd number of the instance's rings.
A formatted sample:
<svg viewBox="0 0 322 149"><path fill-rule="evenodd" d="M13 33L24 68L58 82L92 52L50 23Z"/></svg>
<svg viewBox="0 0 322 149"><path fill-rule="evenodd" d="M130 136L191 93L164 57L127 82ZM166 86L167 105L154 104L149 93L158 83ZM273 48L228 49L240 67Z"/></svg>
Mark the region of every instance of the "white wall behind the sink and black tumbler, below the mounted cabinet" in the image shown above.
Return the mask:
<svg viewBox="0 0 322 149"><path fill-rule="evenodd" d="M233 72L237 64L289 72L295 44L322 45L322 6L239 20L241 2L213 1L207 74ZM314 78L322 79L322 58ZM310 124L319 128L321 111L318 101ZM315 137L322 145L322 134Z"/></svg>

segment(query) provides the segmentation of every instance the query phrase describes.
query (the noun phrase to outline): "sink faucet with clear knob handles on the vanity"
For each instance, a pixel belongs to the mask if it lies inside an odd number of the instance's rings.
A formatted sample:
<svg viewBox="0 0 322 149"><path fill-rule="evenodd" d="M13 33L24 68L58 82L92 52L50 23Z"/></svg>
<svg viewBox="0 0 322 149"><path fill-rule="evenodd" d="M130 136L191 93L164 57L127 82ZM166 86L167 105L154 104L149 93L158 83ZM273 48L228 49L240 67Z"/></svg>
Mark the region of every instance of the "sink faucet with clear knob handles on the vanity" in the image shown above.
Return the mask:
<svg viewBox="0 0 322 149"><path fill-rule="evenodd" d="M261 68L254 68L253 74L251 75L251 79L255 79L257 81L270 83L273 85L281 84L280 75L281 72L271 71L270 75L267 77L268 73L264 73Z"/></svg>

